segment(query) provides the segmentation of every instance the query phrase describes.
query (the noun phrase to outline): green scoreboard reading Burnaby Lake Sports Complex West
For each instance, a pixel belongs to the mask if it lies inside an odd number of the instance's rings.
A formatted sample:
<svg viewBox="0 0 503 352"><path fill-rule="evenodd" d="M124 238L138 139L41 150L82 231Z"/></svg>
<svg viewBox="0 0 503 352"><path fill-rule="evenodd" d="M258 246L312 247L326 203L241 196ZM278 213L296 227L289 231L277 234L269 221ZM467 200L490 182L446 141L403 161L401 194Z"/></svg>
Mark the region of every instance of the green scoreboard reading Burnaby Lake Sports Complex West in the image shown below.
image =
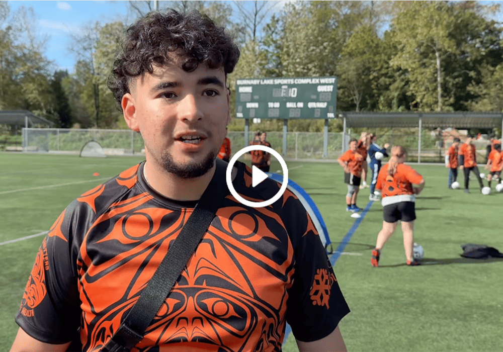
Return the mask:
<svg viewBox="0 0 503 352"><path fill-rule="evenodd" d="M332 119L337 77L236 79L236 117Z"/></svg>

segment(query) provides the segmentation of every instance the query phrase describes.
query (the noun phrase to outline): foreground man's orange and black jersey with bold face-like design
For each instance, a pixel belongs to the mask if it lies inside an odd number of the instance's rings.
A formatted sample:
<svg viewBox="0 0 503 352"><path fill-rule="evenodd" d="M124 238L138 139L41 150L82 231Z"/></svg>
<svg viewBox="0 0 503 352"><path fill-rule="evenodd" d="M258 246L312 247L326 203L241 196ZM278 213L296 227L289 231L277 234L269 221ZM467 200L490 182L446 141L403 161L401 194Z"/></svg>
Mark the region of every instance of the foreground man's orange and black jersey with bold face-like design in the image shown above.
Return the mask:
<svg viewBox="0 0 503 352"><path fill-rule="evenodd" d="M279 184L251 187L236 163L234 188L263 201ZM173 202L142 177L143 163L83 194L43 240L17 323L47 343L80 327L83 350L97 352L136 303L195 202ZM133 349L278 351L288 322L295 337L326 336L349 308L307 211L286 191L250 208L228 195L169 297Z"/></svg>

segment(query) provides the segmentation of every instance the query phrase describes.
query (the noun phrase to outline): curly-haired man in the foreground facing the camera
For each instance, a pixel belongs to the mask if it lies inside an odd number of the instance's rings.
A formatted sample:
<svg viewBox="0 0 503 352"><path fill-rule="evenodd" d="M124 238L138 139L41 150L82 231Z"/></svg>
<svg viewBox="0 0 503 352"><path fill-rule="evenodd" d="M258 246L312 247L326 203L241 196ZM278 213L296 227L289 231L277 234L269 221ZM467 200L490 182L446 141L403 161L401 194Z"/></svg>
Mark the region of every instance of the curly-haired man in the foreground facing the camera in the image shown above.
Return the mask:
<svg viewBox="0 0 503 352"><path fill-rule="evenodd" d="M146 161L73 201L44 239L16 316L11 351L102 350L136 303L215 173L229 123L227 74L239 50L197 12L150 13L127 33L109 86ZM232 183L250 201L237 162ZM225 182L224 180L219 180ZM225 185L225 183L224 183ZM225 186L224 186L225 187ZM299 350L346 350L349 312L326 251L288 190L265 208L227 195L140 350L280 350L287 322Z"/></svg>

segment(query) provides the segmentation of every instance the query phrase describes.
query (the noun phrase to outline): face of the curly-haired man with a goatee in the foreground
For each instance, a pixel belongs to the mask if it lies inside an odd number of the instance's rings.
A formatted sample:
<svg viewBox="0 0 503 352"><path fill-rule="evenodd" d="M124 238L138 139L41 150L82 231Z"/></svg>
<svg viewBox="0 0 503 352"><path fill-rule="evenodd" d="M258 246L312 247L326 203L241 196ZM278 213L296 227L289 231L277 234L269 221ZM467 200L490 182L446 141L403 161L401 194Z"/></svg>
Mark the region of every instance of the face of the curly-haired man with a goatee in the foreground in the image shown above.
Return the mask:
<svg viewBox="0 0 503 352"><path fill-rule="evenodd" d="M213 166L230 121L224 70L199 65L186 72L176 61L154 66L131 83L122 108L145 141L147 162L181 178L199 177Z"/></svg>

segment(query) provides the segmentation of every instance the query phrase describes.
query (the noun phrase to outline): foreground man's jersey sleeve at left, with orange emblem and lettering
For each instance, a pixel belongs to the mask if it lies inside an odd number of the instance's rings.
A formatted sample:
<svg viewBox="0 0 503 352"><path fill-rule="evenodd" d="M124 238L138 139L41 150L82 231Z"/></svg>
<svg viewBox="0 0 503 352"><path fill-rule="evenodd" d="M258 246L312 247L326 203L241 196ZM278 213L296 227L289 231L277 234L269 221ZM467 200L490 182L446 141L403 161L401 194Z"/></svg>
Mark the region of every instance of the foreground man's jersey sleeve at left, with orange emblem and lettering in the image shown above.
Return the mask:
<svg viewBox="0 0 503 352"><path fill-rule="evenodd" d="M66 343L80 324L76 255L69 210L65 209L42 241L28 279L18 325L33 338Z"/></svg>

